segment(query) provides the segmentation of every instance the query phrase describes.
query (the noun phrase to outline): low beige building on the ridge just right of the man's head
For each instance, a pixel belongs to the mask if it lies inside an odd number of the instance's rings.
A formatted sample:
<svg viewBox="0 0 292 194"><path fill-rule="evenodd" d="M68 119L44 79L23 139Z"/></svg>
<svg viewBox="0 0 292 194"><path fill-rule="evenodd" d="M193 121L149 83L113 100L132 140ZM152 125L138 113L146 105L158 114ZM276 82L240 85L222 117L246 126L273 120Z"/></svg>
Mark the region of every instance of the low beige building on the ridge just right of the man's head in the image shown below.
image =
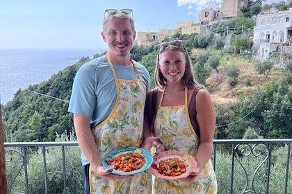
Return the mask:
<svg viewBox="0 0 292 194"><path fill-rule="evenodd" d="M162 29L158 32L137 32L136 44L147 47L155 42L161 42L165 38L170 38L177 32L177 29Z"/></svg>

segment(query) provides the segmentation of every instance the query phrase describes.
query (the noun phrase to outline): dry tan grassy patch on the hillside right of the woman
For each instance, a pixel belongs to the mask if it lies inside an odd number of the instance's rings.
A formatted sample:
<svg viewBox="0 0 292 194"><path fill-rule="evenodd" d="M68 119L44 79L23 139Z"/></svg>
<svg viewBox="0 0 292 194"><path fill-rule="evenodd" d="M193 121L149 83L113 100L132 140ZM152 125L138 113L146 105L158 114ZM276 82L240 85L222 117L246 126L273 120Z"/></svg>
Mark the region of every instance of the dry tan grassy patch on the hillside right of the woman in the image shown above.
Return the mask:
<svg viewBox="0 0 292 194"><path fill-rule="evenodd" d="M249 96L250 92L261 87L270 80L279 80L284 76L284 72L272 69L268 77L257 73L255 70L256 60L249 59L245 56L224 55L220 61L219 73L211 71L211 75L206 79L206 83L211 89L213 100L218 105L236 103L238 96ZM232 64L236 64L240 69L237 78L238 85L231 87L228 84L226 69Z"/></svg>

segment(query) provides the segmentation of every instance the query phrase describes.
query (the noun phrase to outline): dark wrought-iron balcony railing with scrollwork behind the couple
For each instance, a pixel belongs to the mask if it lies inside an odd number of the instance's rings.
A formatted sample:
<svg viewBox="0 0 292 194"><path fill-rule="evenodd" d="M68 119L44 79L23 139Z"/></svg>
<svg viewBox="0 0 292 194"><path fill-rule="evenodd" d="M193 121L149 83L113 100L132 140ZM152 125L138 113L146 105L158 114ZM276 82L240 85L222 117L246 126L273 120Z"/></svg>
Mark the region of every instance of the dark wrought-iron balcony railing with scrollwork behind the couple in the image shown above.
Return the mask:
<svg viewBox="0 0 292 194"><path fill-rule="evenodd" d="M218 188L220 182L222 182L222 179L227 179L227 182L229 185L225 185L226 189L229 191L224 191L225 193L259 193L256 188L256 182L257 182L257 174L261 173L261 171L264 171L264 182L266 185L264 186L264 192L261 191L261 193L271 193L270 191L270 168L273 164L273 152L275 150L275 146L277 148L286 148L286 157L284 158L284 161L286 161L286 169L284 170L284 183L283 186L281 186L282 191L279 191L279 193L292 193L291 186L289 187L289 183L291 184L291 143L292 139L222 139L222 140L214 140L214 152L212 156L213 161L213 168L216 171L216 176L218 179ZM24 174L24 182L25 182L25 189L24 193L29 193L29 176L28 176L28 157L27 152L30 148L38 148L42 150L42 159L40 161L42 162L43 166L43 175L44 175L44 191L43 193L48 193L48 179L47 179L47 150L51 147L58 147L61 150L62 155L62 166L63 172L63 193L69 193L67 191L67 182L66 182L66 175L67 175L67 169L66 169L66 160L65 160L65 150L68 147L72 146L78 146L78 143L75 141L69 141L69 142L43 142L43 143L36 143L36 142L30 142L30 143L4 143L4 147L6 149L6 164L13 161L12 153L15 153L19 155L22 158L22 166L19 168L18 171L15 172L15 177L13 177L13 182L10 182L10 185L8 185L8 188L10 190L10 193L12 191L13 184L15 182L15 179L17 176L19 176L20 173ZM285 147L286 146L286 147ZM215 151L216 150L216 151ZM218 156L220 156L218 153L224 150L223 152L227 152L231 163L229 164L229 178L227 175L224 175L224 177L220 177L222 172L220 172L220 159ZM250 167L245 166L243 164L243 159L248 159L248 161L252 161L252 157L261 157L259 160L259 164L257 164L257 168L253 170L252 173L250 173ZM222 161L221 161L222 162ZM239 164L239 165L238 165ZM240 192L238 191L238 188L236 187L236 191L234 189L235 187L235 178L234 176L236 174L236 169L241 168L241 178L243 179L241 181L244 186L240 189ZM80 162L81 167L81 162ZM262 169L263 168L263 169ZM8 172L9 174L9 172ZM80 180L75 180L76 182L79 182ZM80 183L79 183L80 184ZM218 193L222 193L223 191L218 190Z"/></svg>

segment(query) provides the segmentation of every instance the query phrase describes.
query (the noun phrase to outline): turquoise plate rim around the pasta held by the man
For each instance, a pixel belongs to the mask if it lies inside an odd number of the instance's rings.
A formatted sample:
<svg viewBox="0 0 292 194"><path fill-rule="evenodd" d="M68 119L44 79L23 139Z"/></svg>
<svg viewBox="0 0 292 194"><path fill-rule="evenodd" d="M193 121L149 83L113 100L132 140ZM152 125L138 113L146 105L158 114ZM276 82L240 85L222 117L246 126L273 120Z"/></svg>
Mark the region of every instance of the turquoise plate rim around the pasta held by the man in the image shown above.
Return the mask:
<svg viewBox="0 0 292 194"><path fill-rule="evenodd" d="M108 152L108 154L106 155L106 157L104 157L104 159L102 160L102 165L104 166L104 168L111 168L112 166L107 164L107 161L110 161L113 157L117 157L117 155L120 155L122 153L129 153L129 152L140 152L140 155L143 155L145 157L145 165L138 169L138 170L133 170L131 172L122 172L119 170L113 170L113 174L115 175L134 175L136 173L140 173L144 170L147 170L152 162L153 162L153 157L150 154L150 152L148 152L147 150L143 149L143 148L135 148L135 147L124 147L124 148L118 148L116 150L112 150L111 152Z"/></svg>

